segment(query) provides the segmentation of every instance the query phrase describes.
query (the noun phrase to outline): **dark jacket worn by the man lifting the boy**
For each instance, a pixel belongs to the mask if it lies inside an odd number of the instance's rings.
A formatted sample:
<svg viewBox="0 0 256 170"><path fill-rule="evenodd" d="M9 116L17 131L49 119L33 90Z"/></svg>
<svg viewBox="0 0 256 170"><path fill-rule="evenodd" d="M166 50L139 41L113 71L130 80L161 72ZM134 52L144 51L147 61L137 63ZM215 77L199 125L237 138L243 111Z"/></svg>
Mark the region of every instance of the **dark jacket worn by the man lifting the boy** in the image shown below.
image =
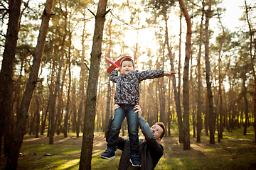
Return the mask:
<svg viewBox="0 0 256 170"><path fill-rule="evenodd" d="M111 120L110 120L111 123ZM154 169L159 159L164 154L164 147L157 142L154 133L152 132L149 124L146 123L144 118L139 117L139 126L142 129L142 133L146 138L146 142L142 142L143 139L139 139L139 158L141 160L142 166L141 170L151 170ZM106 140L110 132L110 125L107 127ZM117 148L122 150L121 159L119 162L119 170L125 170L129 166L129 138L124 139L123 137L118 137Z"/></svg>

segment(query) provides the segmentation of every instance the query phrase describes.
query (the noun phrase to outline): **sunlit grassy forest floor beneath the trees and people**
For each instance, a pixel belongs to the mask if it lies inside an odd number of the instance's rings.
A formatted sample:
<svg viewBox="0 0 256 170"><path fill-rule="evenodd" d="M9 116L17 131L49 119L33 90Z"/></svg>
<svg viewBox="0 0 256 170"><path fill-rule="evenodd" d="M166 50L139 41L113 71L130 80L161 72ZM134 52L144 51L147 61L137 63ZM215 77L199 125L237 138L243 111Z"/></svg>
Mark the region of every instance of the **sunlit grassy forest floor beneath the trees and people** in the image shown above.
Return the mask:
<svg viewBox="0 0 256 170"><path fill-rule="evenodd" d="M140 137L143 137L140 133ZM155 169L256 169L256 145L253 128L248 128L247 135L242 129L232 133L223 132L223 139L209 144L209 137L201 135L201 143L191 136L191 150L183 151L183 144L178 142L178 135L164 137L164 156ZM26 135L18 158L18 169L79 169L82 134L75 133L68 137L55 135L54 145L48 145L49 138L40 135L34 138ZM95 132L92 152L92 169L117 169L121 151L116 152L116 159L100 159L106 149L103 132ZM2 154L1 154L2 155ZM4 169L7 157L0 159L0 169Z"/></svg>

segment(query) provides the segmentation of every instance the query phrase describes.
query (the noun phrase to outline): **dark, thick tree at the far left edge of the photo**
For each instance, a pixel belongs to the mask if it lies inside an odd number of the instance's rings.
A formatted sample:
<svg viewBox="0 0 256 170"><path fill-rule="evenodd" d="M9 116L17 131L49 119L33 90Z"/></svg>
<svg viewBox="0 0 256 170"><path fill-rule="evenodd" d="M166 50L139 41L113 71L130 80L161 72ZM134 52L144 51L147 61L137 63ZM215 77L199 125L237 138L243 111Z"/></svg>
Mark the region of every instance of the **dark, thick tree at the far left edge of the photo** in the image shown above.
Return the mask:
<svg viewBox="0 0 256 170"><path fill-rule="evenodd" d="M13 96L12 78L20 17L21 0L10 0L9 23L0 72L0 140L2 141L2 136L4 135L4 154L6 155L9 154L14 131L14 118L11 116L11 101Z"/></svg>

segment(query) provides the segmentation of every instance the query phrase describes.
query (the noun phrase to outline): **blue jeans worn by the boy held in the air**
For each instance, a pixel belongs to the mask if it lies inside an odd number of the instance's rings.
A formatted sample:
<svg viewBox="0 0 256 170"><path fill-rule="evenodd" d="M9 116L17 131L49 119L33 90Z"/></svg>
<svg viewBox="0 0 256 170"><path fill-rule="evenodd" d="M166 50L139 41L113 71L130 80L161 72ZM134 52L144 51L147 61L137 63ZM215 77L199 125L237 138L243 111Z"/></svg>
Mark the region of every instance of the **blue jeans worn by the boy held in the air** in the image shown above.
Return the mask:
<svg viewBox="0 0 256 170"><path fill-rule="evenodd" d="M110 135L107 143L107 148L111 148L114 151L117 150L117 139L124 121L127 117L128 133L129 133L129 145L130 154L139 153L139 123L138 113L134 113L134 105L118 104L120 107L114 111L114 119L112 122Z"/></svg>

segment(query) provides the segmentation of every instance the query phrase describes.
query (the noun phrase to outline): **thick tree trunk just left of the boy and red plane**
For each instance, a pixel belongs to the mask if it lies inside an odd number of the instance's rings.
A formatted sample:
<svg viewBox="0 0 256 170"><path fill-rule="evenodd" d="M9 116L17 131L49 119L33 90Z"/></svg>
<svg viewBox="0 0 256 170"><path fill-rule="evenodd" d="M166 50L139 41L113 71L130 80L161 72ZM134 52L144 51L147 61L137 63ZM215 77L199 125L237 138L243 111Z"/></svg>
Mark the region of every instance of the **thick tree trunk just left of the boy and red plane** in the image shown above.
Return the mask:
<svg viewBox="0 0 256 170"><path fill-rule="evenodd" d="M91 169L93 132L95 125L95 107L97 101L97 80L100 72L100 58L102 37L105 22L107 0L99 1L95 16L95 32L93 35L92 53L90 58L90 72L87 84L85 104L84 130L82 135L82 151L79 169Z"/></svg>

